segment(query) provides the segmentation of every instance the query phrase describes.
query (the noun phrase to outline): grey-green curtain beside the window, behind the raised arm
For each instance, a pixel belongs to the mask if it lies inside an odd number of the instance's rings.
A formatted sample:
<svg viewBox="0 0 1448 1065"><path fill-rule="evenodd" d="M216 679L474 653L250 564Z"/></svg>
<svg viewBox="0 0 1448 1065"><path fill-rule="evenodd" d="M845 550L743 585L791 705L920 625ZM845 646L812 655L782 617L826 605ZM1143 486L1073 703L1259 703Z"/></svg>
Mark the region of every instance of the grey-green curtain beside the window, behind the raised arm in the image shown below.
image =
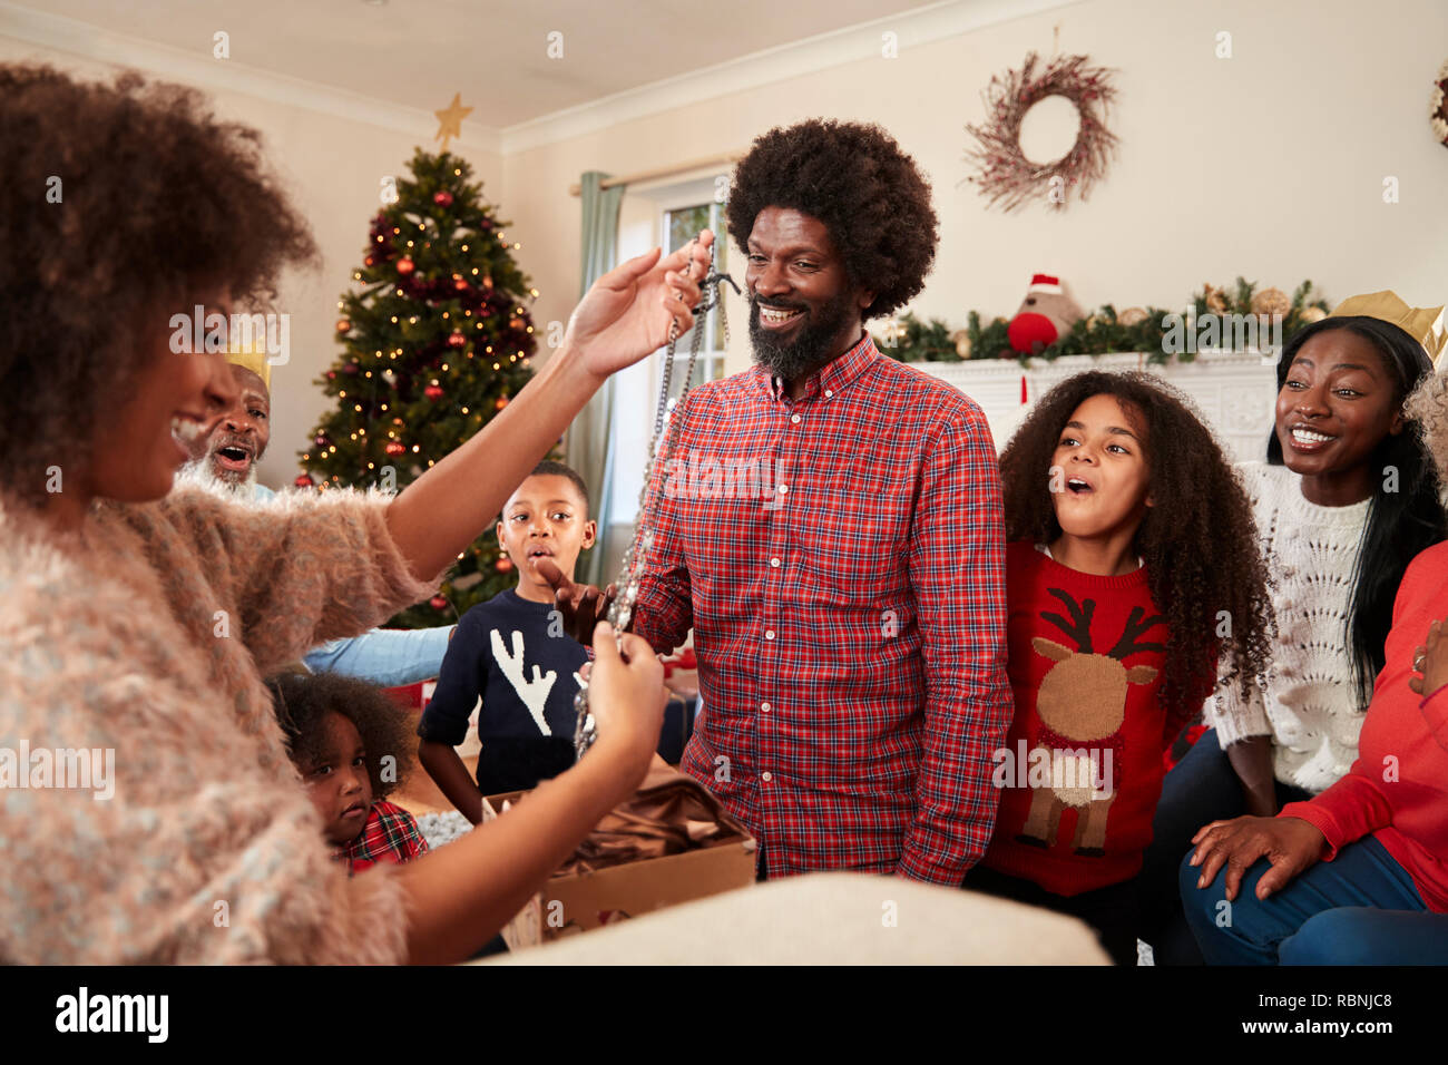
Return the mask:
<svg viewBox="0 0 1448 1065"><path fill-rule="evenodd" d="M618 256L618 207L623 204L624 185L599 188L607 178L597 170L584 174L584 241L582 241L582 284L579 297L588 291L598 277L617 265ZM578 578L602 587L613 574L604 574L604 559L608 556L608 525L613 520L610 496L614 480L614 383L604 383L598 394L573 419L568 427L563 446L568 464L573 467L588 485L591 517L598 522L598 543L579 561Z"/></svg>

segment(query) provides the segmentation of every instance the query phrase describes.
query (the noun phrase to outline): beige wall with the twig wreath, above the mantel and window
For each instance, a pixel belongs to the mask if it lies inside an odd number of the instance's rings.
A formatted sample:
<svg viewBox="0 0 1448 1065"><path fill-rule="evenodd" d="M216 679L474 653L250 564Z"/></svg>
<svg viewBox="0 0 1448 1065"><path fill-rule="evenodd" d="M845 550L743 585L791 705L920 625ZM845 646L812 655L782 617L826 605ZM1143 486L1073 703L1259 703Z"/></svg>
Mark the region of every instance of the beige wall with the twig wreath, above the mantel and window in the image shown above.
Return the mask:
<svg viewBox="0 0 1448 1065"><path fill-rule="evenodd" d="M1011 314L1035 271L1083 306L1179 306L1241 274L1289 290L1310 277L1339 300L1396 288L1448 300L1448 149L1428 129L1428 93L1448 57L1448 4L1403 0L1392 17L1361 0L1092 0L783 80L505 155L504 187L524 262L563 319L576 293L585 170L649 170L743 148L775 125L828 116L882 123L924 167L941 242L918 314L964 326L972 309ZM989 212L961 161L992 72L1030 49L1116 67L1121 148L1087 203ZM1218 30L1234 58L1213 57ZM1396 175L1402 201L1383 203ZM734 304L740 306L738 303ZM736 319L740 320L740 319ZM737 335L737 333L736 333ZM731 351L731 368L747 348Z"/></svg>

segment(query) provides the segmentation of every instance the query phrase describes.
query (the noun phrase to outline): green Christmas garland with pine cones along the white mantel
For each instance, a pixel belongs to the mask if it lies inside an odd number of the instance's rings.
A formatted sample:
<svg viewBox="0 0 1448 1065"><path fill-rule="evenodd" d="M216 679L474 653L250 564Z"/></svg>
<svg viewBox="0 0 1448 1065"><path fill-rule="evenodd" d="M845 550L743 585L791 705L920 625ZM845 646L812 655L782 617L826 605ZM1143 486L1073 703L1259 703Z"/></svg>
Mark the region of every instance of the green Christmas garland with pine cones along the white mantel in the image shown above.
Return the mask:
<svg viewBox="0 0 1448 1065"><path fill-rule="evenodd" d="M1222 317L1281 314L1283 338L1292 336L1306 325L1319 322L1328 313L1328 303L1315 294L1312 281L1303 281L1289 298L1277 288L1258 291L1255 283L1237 278L1237 287L1231 291L1211 284L1205 285L1200 293L1192 297L1192 303L1196 319L1202 319L1208 313ZM921 322L914 314L905 313L875 338L875 345L901 362L1014 358L1025 367L1030 365L1031 358L1054 362L1061 355L1106 355L1138 351L1150 352L1147 362L1164 364L1173 358L1167 354L1166 343L1171 326L1163 325L1163 319L1170 314L1182 317L1182 310L1127 307L1118 312L1108 303L1073 325L1069 333L1040 355L1032 356L1011 349L1011 342L1006 339L1009 323L1003 317L983 326L979 312L973 310L966 319L966 327L951 332L950 326L940 319ZM1174 358L1177 362L1192 362L1196 352L1182 351Z"/></svg>

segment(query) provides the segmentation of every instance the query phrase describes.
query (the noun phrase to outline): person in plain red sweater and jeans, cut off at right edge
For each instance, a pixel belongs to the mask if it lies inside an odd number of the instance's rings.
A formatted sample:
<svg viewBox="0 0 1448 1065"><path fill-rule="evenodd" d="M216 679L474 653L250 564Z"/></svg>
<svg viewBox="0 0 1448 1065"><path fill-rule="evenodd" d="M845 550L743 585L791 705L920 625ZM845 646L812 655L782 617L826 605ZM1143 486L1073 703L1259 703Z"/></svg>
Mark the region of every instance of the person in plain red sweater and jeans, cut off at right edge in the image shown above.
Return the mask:
<svg viewBox="0 0 1448 1065"><path fill-rule="evenodd" d="M1448 381L1432 375L1407 410L1448 474ZM1448 964L1445 613L1448 542L1403 574L1348 775L1196 833L1180 882L1208 964Z"/></svg>

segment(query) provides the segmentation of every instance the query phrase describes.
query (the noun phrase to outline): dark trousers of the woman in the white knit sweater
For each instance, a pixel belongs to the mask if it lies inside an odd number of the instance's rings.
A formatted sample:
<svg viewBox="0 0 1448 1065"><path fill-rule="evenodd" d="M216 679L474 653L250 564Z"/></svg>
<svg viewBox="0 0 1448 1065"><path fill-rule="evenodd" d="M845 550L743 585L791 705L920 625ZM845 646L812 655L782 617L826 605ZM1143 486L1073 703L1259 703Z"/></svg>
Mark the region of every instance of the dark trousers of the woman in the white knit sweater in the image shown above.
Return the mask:
<svg viewBox="0 0 1448 1065"><path fill-rule="evenodd" d="M1277 804L1296 803L1312 795L1290 784L1277 782ZM1141 922L1137 935L1151 943L1157 965L1202 965L1186 917L1182 916L1182 891L1177 868L1182 855L1190 853L1192 836L1203 824L1247 813L1242 782L1208 729L1192 745L1161 784L1161 800L1151 822L1151 846L1137 877Z"/></svg>

